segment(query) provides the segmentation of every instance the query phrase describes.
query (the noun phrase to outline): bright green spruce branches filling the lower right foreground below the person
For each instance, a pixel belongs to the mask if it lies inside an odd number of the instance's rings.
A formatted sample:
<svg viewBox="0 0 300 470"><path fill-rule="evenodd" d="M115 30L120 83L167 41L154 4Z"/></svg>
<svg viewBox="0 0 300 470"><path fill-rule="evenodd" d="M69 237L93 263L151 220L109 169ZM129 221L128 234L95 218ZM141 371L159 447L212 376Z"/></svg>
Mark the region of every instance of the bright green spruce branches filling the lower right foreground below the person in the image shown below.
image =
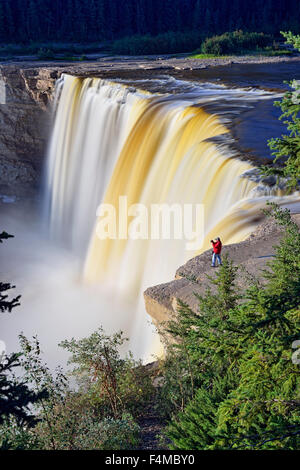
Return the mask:
<svg viewBox="0 0 300 470"><path fill-rule="evenodd" d="M181 303L169 333L190 376L189 400L166 435L172 449L297 449L300 370L300 234L287 210L271 207L284 229L276 257L238 295L225 260L196 314ZM296 343L298 344L298 343ZM294 363L295 362L295 363ZM166 385L165 385L166 386Z"/></svg>

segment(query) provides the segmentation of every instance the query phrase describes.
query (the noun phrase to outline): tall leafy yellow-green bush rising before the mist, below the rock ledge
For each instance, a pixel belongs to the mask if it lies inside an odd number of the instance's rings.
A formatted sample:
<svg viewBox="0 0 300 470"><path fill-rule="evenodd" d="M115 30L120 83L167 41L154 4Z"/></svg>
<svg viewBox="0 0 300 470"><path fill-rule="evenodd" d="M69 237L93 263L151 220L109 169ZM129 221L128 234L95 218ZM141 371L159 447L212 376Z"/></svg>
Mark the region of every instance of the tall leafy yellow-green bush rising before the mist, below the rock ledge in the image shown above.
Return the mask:
<svg viewBox="0 0 300 470"><path fill-rule="evenodd" d="M151 378L141 362L130 354L120 356L125 341L122 332L106 336L100 328L88 338L60 344L71 353L69 363L75 365L72 375L82 402L115 419L124 412L138 417L154 393Z"/></svg>

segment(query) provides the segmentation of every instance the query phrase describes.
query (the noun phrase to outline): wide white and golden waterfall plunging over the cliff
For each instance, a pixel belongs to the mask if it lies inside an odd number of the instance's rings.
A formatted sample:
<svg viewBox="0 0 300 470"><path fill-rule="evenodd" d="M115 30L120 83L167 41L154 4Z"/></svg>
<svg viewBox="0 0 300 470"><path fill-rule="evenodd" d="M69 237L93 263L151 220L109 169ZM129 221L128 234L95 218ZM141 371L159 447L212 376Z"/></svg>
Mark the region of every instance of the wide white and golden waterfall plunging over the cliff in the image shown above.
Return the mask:
<svg viewBox="0 0 300 470"><path fill-rule="evenodd" d="M136 354L149 359L158 352L159 341L142 293L172 279L195 253L186 251L182 239L100 240L95 230L98 205L112 205L119 216L120 196L127 197L128 206L146 208L203 204L199 252L218 235L225 243L244 240L257 225L266 198L255 197L257 184L241 178L251 164L224 153L224 141L216 138L226 136L228 128L205 111L205 96L195 91L149 95L66 75L57 96L47 169L51 232L81 253L85 281L113 286L116 296L131 302L126 333ZM206 104L215 99L207 96Z"/></svg>

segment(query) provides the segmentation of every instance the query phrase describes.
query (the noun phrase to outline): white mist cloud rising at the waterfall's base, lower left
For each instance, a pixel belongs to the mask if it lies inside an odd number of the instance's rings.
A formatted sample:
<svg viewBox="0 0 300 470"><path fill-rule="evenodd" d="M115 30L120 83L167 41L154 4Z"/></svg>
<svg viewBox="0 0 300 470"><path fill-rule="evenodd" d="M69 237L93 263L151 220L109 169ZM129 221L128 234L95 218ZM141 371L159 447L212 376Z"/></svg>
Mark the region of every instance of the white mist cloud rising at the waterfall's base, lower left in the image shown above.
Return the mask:
<svg viewBox="0 0 300 470"><path fill-rule="evenodd" d="M80 259L49 240L36 211L13 205L0 210L1 229L15 236L0 245L0 278L16 286L10 296L22 295L21 306L0 317L7 354L19 351L21 332L27 338L37 335L53 369L66 365L68 353L58 347L64 339L86 337L100 326L106 334L122 330L131 336L134 303L117 298L112 286L84 284ZM148 326L153 329L150 320ZM122 352L129 349L140 357L133 341Z"/></svg>

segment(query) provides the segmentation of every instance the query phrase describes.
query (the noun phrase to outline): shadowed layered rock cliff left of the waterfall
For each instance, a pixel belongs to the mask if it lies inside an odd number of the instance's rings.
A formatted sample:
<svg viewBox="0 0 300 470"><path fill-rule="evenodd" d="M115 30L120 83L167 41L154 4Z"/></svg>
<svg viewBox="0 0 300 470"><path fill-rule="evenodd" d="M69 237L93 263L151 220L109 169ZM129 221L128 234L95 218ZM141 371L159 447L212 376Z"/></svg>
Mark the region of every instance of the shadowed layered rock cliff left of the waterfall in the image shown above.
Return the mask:
<svg viewBox="0 0 300 470"><path fill-rule="evenodd" d="M36 195L58 72L0 67L0 195Z"/></svg>

